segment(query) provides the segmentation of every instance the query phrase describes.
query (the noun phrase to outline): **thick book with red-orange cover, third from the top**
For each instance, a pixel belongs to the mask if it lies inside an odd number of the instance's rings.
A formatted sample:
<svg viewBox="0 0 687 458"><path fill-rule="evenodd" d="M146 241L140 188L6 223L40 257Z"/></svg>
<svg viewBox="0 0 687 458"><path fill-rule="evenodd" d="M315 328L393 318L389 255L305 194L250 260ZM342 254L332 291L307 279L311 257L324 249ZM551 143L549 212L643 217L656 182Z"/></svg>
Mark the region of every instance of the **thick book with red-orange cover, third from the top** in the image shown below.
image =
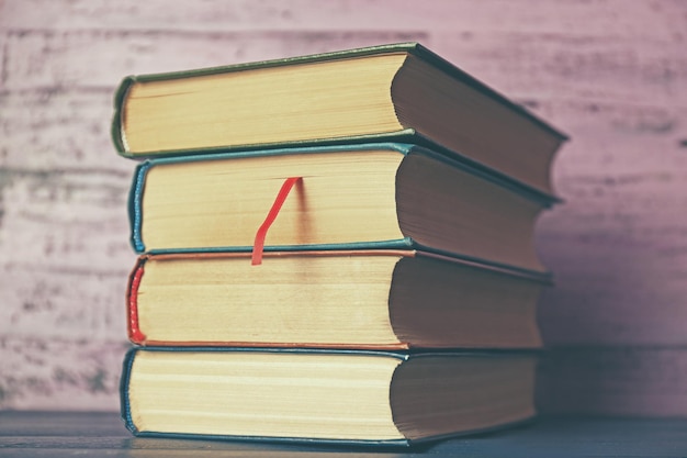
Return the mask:
<svg viewBox="0 0 687 458"><path fill-rule="evenodd" d="M538 348L528 277L415 250L142 256L129 278L137 345Z"/></svg>

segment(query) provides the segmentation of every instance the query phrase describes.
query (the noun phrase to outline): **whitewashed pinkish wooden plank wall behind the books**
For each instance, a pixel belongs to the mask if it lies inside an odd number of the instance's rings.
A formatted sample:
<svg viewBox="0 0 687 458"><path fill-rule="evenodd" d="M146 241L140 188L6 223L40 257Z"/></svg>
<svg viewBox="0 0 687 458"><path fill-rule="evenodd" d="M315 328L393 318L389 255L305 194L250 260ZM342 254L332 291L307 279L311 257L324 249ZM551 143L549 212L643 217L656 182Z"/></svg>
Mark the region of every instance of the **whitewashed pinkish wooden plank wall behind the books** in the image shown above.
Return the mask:
<svg viewBox="0 0 687 458"><path fill-rule="evenodd" d="M543 411L687 416L687 1L0 0L0 409L119 409L128 74L419 41L568 133Z"/></svg>

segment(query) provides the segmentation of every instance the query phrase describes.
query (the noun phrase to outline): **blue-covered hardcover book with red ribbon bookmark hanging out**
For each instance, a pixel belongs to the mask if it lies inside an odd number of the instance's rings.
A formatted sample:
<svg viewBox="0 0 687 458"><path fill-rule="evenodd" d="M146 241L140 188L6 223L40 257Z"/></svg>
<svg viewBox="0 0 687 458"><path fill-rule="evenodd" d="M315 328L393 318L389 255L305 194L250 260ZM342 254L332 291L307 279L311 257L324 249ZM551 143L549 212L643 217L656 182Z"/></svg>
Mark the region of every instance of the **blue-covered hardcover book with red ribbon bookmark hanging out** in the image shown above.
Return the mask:
<svg viewBox="0 0 687 458"><path fill-rule="evenodd" d="M541 273L533 228L552 203L416 145L157 158L135 174L132 243L250 252L271 215L264 250L421 248Z"/></svg>

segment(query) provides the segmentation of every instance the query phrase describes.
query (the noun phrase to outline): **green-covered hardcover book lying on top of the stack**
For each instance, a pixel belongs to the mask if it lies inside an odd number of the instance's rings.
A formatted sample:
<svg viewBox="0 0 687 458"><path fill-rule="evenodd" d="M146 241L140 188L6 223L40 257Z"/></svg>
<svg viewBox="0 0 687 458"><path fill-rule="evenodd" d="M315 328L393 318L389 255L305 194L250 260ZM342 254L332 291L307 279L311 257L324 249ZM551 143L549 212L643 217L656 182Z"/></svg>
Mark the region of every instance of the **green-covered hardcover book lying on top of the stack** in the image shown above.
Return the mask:
<svg viewBox="0 0 687 458"><path fill-rule="evenodd" d="M547 194L566 139L417 43L129 76L114 103L127 157L394 141Z"/></svg>

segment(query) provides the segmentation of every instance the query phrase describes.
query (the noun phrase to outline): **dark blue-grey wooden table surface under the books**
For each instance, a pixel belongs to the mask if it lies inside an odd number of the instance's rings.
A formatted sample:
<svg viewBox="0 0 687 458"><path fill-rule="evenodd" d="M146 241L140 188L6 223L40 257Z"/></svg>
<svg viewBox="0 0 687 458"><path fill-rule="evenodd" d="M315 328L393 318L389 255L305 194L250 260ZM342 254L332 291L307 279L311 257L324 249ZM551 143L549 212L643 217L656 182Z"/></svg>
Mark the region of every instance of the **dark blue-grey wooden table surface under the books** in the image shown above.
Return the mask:
<svg viewBox="0 0 687 458"><path fill-rule="evenodd" d="M687 418L545 417L412 449L133 437L116 413L0 412L0 457L687 457Z"/></svg>

